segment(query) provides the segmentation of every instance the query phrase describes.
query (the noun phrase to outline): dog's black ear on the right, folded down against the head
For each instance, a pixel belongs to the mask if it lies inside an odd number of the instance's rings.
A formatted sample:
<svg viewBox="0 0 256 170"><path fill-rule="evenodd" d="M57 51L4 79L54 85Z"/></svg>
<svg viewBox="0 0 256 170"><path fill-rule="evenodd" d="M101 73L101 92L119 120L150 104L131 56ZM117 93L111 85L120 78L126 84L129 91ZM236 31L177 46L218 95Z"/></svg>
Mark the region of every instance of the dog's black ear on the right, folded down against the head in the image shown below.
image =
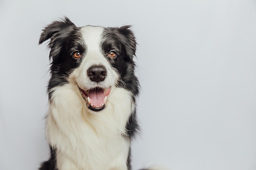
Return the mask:
<svg viewBox="0 0 256 170"><path fill-rule="evenodd" d="M125 46L126 54L130 57L130 59L133 58L133 56L136 53L136 40L134 33L131 31L131 26L126 25L119 28L110 28L112 31L117 33L119 40L122 44Z"/></svg>

